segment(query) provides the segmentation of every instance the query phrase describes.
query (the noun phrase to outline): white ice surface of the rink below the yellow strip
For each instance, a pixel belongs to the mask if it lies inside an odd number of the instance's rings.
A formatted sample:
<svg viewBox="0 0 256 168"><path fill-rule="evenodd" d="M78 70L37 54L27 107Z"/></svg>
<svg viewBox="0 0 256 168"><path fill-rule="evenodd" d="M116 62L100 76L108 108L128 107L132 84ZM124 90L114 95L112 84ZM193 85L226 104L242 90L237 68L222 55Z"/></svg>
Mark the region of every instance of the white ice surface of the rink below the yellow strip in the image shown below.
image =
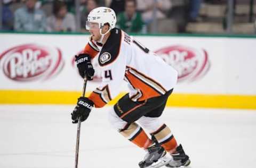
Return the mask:
<svg viewBox="0 0 256 168"><path fill-rule="evenodd" d="M74 106L0 105L1 168L70 168L75 163ZM145 155L111 128L110 107L82 123L79 168L138 167ZM192 168L256 167L256 111L166 108L162 120Z"/></svg>

